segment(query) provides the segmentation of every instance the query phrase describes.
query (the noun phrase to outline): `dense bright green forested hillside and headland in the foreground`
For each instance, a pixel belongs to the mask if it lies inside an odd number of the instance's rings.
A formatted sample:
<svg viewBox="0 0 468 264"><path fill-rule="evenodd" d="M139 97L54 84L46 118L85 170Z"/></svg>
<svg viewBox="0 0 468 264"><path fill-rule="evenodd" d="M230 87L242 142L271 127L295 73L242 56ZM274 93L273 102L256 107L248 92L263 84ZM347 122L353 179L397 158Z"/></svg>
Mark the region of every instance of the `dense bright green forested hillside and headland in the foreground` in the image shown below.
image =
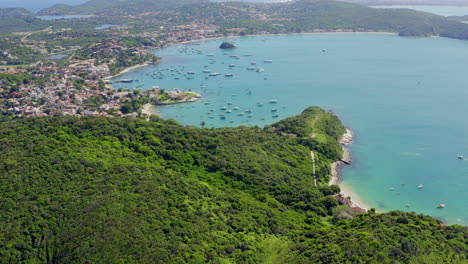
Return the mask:
<svg viewBox="0 0 468 264"><path fill-rule="evenodd" d="M296 122L325 141L343 129L318 108L265 129L1 117L0 262L466 263L464 227L344 220L328 171L314 187L313 144L283 135Z"/></svg>

